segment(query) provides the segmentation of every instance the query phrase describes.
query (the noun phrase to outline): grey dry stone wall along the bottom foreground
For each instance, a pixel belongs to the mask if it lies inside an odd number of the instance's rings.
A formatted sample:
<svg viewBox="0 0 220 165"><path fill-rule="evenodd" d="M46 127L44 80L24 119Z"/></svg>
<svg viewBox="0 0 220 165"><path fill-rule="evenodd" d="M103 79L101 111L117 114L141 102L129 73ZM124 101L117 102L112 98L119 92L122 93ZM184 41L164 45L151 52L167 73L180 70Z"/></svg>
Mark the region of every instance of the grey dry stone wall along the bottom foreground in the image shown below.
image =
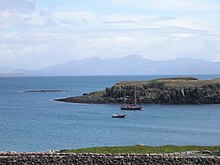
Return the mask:
<svg viewBox="0 0 220 165"><path fill-rule="evenodd" d="M219 156L196 156L188 153L172 154L62 154L56 152L44 153L0 153L0 165L110 165L110 164L157 164L157 165L219 165Z"/></svg>

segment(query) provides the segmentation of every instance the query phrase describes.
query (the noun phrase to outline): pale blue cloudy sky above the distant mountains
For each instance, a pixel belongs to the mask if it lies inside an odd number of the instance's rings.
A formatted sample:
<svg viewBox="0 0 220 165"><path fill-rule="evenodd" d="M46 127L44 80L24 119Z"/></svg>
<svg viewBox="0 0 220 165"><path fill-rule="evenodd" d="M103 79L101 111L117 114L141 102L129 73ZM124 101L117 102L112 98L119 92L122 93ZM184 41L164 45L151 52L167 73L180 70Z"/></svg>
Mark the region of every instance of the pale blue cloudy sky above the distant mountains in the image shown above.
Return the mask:
<svg viewBox="0 0 220 165"><path fill-rule="evenodd" d="M140 55L220 61L219 0L0 0L0 72Z"/></svg>

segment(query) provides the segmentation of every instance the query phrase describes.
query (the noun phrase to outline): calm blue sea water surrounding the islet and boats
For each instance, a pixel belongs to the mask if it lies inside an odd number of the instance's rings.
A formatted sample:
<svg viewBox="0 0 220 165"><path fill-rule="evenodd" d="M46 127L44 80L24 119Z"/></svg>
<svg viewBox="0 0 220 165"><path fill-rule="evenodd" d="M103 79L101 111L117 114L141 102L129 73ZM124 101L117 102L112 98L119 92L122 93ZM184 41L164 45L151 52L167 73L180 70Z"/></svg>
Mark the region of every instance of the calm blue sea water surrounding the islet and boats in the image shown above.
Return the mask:
<svg viewBox="0 0 220 165"><path fill-rule="evenodd" d="M220 145L220 105L73 104L54 99L110 87L122 80L167 76L0 78L0 151L47 151L95 146ZM170 77L170 76L168 76ZM199 75L212 79L220 75ZM32 93L59 89L68 92ZM112 114L126 113L125 119Z"/></svg>

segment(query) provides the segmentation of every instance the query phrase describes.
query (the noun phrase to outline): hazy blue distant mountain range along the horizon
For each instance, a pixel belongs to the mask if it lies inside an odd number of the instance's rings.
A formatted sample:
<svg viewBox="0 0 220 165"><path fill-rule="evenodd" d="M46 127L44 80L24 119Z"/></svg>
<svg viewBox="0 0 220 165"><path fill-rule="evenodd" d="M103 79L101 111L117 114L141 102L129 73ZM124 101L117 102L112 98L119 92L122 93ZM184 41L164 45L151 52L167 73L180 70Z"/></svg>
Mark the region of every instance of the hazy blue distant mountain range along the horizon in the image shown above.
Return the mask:
<svg viewBox="0 0 220 165"><path fill-rule="evenodd" d="M16 70L2 75L12 76L71 76L71 75L188 75L220 74L220 62L190 58L154 61L132 55L123 58L89 58L72 60L41 70Z"/></svg>

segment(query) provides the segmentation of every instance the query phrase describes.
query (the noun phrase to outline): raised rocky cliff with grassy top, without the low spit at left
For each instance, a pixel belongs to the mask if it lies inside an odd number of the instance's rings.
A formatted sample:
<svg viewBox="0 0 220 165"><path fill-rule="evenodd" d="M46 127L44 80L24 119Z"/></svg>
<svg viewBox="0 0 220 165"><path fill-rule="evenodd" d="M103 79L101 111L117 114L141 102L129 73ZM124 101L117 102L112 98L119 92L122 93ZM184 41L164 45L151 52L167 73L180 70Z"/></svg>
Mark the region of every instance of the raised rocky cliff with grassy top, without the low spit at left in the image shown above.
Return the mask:
<svg viewBox="0 0 220 165"><path fill-rule="evenodd" d="M106 88L105 97L134 100L141 103L206 104L220 103L220 79L202 81L196 79L158 79L152 81L121 82Z"/></svg>

